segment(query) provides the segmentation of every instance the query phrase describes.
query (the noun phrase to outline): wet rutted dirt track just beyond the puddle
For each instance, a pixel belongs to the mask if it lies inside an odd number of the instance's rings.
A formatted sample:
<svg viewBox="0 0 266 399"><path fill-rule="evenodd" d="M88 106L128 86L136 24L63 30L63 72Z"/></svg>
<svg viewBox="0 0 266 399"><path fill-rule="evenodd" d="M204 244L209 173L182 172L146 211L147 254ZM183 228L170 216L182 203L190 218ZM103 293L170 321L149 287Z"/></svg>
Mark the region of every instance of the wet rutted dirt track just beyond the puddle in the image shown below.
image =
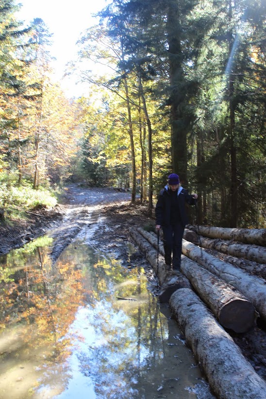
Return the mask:
<svg viewBox="0 0 266 399"><path fill-rule="evenodd" d="M54 239L50 255L53 262L64 248L77 238L93 245L93 237L94 245L100 245L104 251L108 249L110 251L110 241L115 240L116 243L113 243L112 247L116 247L119 240L122 242L125 239L122 234L123 226L119 224L119 221L109 226L108 209L110 206L119 207L128 204L130 198L129 192L99 188L88 190L77 185L68 186L62 198L63 220L50 232ZM115 238L116 236L118 239Z"/></svg>

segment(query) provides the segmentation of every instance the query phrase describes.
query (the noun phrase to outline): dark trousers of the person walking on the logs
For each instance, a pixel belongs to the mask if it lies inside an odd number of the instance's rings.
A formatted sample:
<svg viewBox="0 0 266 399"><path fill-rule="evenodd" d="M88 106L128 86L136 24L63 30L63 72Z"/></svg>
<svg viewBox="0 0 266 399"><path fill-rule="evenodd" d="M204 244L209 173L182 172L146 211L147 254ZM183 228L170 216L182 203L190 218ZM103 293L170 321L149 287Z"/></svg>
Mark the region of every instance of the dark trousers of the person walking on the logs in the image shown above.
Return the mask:
<svg viewBox="0 0 266 399"><path fill-rule="evenodd" d="M163 233L166 265L171 265L171 256L173 254L173 269L180 269L184 233L183 224L175 223L164 226Z"/></svg>

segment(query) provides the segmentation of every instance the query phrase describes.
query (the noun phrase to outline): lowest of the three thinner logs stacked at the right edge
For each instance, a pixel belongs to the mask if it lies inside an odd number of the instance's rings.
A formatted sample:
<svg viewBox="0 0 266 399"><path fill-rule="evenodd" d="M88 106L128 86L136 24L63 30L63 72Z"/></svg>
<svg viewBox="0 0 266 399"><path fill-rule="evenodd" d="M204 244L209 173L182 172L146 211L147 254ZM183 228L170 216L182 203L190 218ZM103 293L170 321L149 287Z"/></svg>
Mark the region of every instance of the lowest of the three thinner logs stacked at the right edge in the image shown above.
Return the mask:
<svg viewBox="0 0 266 399"><path fill-rule="evenodd" d="M236 256L224 255L216 250L207 250L208 254L215 256L224 262L231 263L233 266L238 266L241 269L248 271L251 274L256 274L256 276L266 279L266 265L253 262L252 260L237 258Z"/></svg>

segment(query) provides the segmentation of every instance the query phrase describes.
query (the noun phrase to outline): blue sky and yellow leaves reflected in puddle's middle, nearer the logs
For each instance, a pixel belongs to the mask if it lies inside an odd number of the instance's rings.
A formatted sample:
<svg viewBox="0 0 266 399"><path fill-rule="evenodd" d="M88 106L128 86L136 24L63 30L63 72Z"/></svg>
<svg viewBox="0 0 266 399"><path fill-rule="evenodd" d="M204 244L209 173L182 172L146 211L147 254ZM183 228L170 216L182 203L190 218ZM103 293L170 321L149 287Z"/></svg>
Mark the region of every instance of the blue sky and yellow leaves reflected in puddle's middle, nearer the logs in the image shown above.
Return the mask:
<svg viewBox="0 0 266 399"><path fill-rule="evenodd" d="M86 323L93 326L95 340L78 355L81 371L94 381L99 397L133 398L138 393L134 388L138 378L164 357L167 320L158 316L160 309L157 300L148 295L143 271L134 269L129 274L123 268L117 271L116 265L113 274L113 264L108 268L104 260L94 267L98 295L102 290L104 299L87 308ZM128 274L126 284L118 285L119 295L114 285L111 294L106 289L107 284L101 281L106 277L102 269L108 269L109 280L112 275L116 283L125 282ZM116 301L116 296L138 300Z"/></svg>

